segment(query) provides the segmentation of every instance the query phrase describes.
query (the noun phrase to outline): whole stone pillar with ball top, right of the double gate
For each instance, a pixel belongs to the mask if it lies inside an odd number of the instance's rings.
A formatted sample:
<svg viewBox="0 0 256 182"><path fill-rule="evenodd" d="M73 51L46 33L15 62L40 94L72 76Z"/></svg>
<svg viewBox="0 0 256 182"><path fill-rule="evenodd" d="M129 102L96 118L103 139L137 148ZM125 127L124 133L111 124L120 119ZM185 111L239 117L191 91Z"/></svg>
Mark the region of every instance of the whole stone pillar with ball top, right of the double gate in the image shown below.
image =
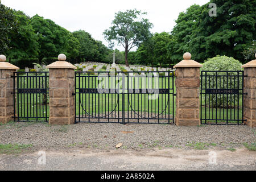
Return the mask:
<svg viewBox="0 0 256 182"><path fill-rule="evenodd" d="M189 52L184 53L182 61L176 64L176 115L175 125L200 125L200 67L202 64L191 60Z"/></svg>

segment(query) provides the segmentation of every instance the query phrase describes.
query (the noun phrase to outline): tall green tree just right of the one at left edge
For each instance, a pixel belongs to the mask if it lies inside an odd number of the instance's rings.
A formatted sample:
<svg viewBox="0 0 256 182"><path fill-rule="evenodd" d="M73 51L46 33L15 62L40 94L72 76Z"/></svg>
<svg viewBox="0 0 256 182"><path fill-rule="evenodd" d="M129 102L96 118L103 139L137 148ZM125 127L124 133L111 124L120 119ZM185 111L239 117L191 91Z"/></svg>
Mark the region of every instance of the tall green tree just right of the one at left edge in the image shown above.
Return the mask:
<svg viewBox="0 0 256 182"><path fill-rule="evenodd" d="M9 35L11 39L10 48L7 51L9 61L11 58L27 59L38 56L38 37L30 24L30 18L22 11L13 11L13 13L17 19L17 31Z"/></svg>

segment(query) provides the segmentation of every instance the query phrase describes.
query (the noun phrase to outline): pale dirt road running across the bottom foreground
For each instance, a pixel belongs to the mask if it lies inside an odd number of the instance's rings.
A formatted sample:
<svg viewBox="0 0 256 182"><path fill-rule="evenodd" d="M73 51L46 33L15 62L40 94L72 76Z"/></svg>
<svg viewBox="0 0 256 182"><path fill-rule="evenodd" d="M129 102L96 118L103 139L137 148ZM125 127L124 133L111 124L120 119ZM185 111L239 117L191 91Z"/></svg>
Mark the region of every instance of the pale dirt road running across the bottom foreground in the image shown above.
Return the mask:
<svg viewBox="0 0 256 182"><path fill-rule="evenodd" d="M253 170L256 152L227 150L65 150L0 155L1 170ZM210 152L210 154L209 154ZM216 153L214 153L216 152ZM216 156L216 158L214 157ZM40 158L41 157L41 158ZM39 159L40 158L40 159ZM210 161L209 161L210 159ZM215 160L216 159L216 160Z"/></svg>

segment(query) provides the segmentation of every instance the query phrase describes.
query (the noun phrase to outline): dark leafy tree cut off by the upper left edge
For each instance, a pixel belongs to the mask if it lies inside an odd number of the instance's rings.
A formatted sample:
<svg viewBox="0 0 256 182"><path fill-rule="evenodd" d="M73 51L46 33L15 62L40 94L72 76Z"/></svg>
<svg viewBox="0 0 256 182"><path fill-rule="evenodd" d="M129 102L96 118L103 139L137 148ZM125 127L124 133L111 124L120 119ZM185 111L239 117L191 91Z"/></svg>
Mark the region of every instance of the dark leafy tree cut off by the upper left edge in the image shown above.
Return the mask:
<svg viewBox="0 0 256 182"><path fill-rule="evenodd" d="M10 35L16 31L16 18L13 10L3 5L0 1L0 52L6 53L9 49Z"/></svg>

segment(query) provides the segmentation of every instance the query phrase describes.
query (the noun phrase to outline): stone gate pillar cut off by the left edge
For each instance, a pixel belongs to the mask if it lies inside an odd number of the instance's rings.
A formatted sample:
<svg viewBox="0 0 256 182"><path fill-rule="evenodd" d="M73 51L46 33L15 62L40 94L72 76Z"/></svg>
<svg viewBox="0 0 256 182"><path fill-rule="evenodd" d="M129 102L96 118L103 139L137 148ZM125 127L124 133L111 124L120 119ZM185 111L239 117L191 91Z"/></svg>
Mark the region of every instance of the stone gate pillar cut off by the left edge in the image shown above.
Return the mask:
<svg viewBox="0 0 256 182"><path fill-rule="evenodd" d="M5 55L0 55L0 123L13 120L14 97L13 97L13 72L19 68L7 63Z"/></svg>

